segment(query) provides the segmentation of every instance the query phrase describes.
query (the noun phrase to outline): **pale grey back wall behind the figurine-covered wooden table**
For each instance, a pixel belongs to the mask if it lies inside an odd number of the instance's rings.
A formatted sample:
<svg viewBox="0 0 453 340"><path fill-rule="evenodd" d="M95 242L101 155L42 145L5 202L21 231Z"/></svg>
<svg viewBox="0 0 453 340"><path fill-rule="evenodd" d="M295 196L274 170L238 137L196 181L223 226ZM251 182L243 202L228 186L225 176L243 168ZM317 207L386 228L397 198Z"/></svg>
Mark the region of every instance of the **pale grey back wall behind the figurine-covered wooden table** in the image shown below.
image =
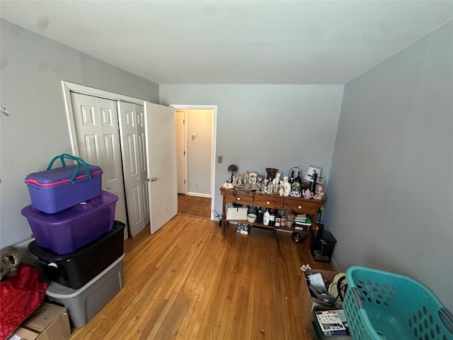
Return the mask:
<svg viewBox="0 0 453 340"><path fill-rule="evenodd" d="M328 181L343 85L171 85L159 87L162 105L217 105L215 187L240 172L273 167L287 174L310 164ZM215 190L214 209L222 211Z"/></svg>

